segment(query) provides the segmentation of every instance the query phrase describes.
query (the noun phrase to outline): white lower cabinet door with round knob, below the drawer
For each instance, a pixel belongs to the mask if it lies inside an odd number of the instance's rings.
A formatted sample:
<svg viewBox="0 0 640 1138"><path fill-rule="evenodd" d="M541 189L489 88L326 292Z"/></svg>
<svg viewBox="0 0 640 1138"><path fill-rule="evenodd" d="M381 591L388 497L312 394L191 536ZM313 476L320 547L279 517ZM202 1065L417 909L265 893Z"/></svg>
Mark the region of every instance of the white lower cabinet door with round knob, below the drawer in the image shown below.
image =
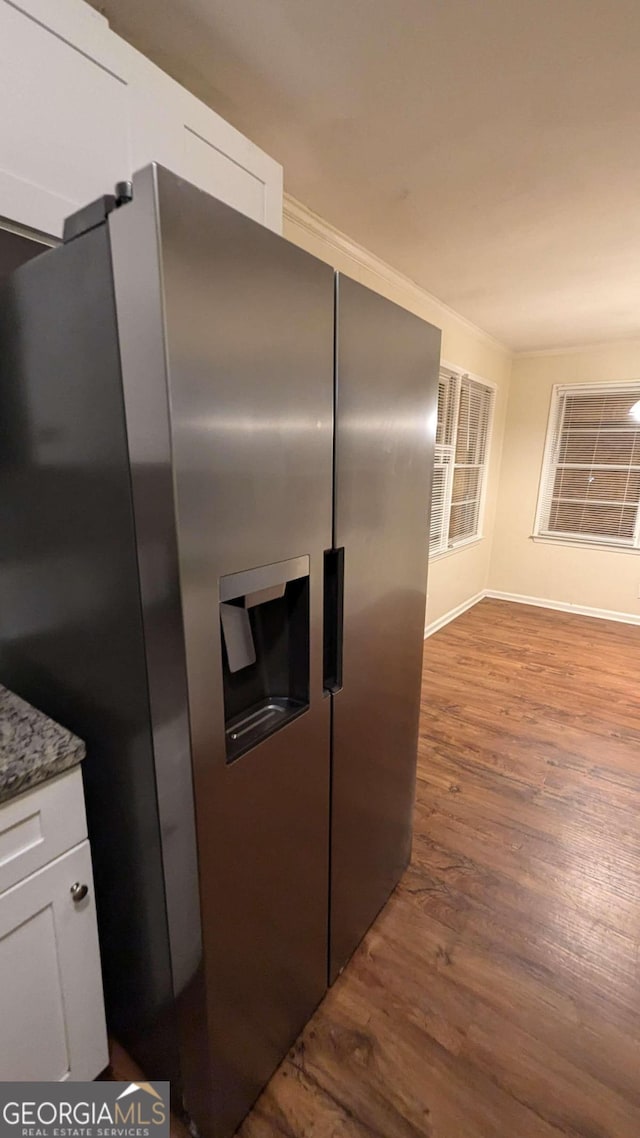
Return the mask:
<svg viewBox="0 0 640 1138"><path fill-rule="evenodd" d="M75 882L88 887L83 900ZM0 1080L95 1079L107 1062L84 841L0 894Z"/></svg>

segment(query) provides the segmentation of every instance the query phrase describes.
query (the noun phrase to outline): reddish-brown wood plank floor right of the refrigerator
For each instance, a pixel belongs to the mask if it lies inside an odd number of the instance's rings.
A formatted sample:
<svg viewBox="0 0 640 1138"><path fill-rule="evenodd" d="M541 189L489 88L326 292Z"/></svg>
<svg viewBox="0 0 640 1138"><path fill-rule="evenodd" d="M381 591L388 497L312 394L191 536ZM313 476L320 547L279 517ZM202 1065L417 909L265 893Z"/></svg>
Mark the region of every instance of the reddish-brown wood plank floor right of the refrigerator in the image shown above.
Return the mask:
<svg viewBox="0 0 640 1138"><path fill-rule="evenodd" d="M413 859L241 1138L639 1138L640 629L425 645Z"/></svg>

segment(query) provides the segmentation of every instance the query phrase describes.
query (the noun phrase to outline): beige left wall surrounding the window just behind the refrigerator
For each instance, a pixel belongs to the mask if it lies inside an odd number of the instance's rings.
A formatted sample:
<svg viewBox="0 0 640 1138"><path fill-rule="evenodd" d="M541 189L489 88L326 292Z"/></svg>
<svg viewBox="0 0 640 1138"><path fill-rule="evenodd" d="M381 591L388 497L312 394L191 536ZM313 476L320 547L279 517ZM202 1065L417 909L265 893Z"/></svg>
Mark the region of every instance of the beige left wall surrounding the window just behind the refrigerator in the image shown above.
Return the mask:
<svg viewBox="0 0 640 1138"><path fill-rule="evenodd" d="M296 206L285 207L285 237L342 272L403 305L442 329L442 358L497 385L495 413L484 516L484 534L491 535L498 497L498 476L511 355L507 348L441 305L411 281L378 262L367 250ZM426 539L426 531L425 531ZM491 551L490 536L466 549L432 561L427 594L427 624L438 620L485 588Z"/></svg>

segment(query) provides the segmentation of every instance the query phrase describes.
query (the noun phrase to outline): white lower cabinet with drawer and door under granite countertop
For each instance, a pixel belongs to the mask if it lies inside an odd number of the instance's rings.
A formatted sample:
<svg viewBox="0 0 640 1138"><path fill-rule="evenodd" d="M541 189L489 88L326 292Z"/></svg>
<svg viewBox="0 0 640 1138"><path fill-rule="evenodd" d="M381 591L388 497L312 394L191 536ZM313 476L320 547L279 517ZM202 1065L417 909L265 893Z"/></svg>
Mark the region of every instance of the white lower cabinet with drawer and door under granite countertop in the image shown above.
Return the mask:
<svg viewBox="0 0 640 1138"><path fill-rule="evenodd" d="M85 834L77 767L0 806L0 1081L108 1063Z"/></svg>

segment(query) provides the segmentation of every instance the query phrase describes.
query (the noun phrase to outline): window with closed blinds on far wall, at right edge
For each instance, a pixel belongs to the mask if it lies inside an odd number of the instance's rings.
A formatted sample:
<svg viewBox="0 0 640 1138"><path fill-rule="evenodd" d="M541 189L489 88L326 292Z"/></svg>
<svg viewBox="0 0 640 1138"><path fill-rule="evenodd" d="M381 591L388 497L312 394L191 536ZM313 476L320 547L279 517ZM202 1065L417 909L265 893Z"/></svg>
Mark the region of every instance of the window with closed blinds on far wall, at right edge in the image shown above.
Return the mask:
<svg viewBox="0 0 640 1138"><path fill-rule="evenodd" d="M640 382L556 387L534 536L640 547Z"/></svg>

